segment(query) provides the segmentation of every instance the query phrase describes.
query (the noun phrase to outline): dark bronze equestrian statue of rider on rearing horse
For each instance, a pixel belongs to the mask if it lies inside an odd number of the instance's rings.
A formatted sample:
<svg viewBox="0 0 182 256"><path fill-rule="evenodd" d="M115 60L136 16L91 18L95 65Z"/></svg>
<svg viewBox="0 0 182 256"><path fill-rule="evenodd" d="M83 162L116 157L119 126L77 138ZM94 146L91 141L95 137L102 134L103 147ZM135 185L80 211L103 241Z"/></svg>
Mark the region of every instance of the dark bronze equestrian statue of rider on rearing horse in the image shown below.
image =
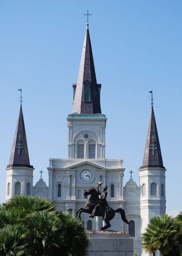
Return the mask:
<svg viewBox="0 0 182 256"><path fill-rule="evenodd" d="M110 228L110 220L112 220L115 216L115 213L120 213L121 218L124 222L127 224L128 221L125 216L125 212L122 208L118 208L116 210L112 209L110 206L107 204L107 186L103 186L103 191L100 193L99 187L103 183L102 182L97 182L97 189L91 187L87 189L84 192L84 196L91 195L90 198L87 200L85 208L79 208L78 211L76 212L76 216L78 216L79 213L79 219L81 219L81 213L85 212L88 214L91 214L89 217L94 218L95 216L102 216L103 220L106 222L106 225L99 230L105 230L107 228Z"/></svg>

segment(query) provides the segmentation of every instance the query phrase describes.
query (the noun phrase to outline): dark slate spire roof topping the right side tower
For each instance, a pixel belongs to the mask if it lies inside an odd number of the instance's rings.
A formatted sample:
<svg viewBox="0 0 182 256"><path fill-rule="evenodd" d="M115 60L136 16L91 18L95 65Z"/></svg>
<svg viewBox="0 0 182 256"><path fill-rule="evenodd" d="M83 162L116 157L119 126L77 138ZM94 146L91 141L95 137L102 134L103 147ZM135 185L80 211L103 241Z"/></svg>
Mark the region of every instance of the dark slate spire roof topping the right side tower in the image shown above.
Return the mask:
<svg viewBox="0 0 182 256"><path fill-rule="evenodd" d="M161 147L152 106L142 166L163 166Z"/></svg>

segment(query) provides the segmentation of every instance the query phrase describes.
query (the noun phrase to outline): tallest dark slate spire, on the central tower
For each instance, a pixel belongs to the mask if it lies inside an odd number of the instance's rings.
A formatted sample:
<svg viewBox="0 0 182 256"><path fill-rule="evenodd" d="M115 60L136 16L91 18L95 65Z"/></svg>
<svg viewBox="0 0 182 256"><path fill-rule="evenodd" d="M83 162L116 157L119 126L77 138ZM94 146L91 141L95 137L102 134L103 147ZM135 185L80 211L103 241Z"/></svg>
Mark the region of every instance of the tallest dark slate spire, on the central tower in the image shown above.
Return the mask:
<svg viewBox="0 0 182 256"><path fill-rule="evenodd" d="M84 85L90 84L90 100L84 99ZM74 114L99 114L101 113L100 109L100 84L97 84L95 68L94 68L94 59L92 55L92 47L90 42L90 35L88 30L88 24L86 29L86 34L84 38L82 58L80 62L80 69L78 74L77 84L74 84L76 87L73 110Z"/></svg>

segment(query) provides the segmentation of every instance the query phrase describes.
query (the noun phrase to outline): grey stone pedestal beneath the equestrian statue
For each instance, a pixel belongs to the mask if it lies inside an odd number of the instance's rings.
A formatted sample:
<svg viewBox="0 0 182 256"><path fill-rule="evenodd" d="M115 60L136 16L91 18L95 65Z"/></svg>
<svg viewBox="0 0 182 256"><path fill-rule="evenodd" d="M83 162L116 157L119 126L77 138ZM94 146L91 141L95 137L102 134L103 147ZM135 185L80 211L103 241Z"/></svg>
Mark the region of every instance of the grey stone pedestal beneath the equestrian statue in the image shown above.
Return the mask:
<svg viewBox="0 0 182 256"><path fill-rule="evenodd" d="M87 231L89 256L133 256L133 239L124 232Z"/></svg>

